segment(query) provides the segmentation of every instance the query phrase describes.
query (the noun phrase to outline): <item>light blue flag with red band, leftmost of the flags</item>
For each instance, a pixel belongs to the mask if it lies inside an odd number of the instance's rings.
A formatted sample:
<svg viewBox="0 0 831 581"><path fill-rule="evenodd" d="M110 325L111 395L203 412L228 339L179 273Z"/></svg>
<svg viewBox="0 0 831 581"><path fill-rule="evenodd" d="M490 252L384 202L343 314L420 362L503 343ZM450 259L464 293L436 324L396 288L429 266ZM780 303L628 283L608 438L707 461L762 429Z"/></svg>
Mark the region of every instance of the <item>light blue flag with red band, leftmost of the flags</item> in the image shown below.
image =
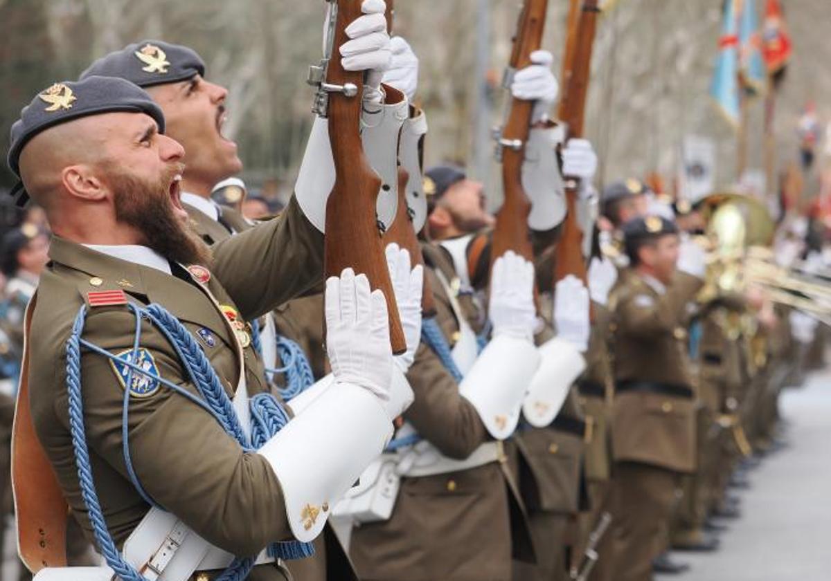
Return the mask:
<svg viewBox="0 0 831 581"><path fill-rule="evenodd" d="M738 0L740 2L740 0ZM725 119L734 127L739 126L739 35L736 21L735 0L725 0L724 18L719 37L719 54L715 59L715 72L710 85L710 95Z"/></svg>

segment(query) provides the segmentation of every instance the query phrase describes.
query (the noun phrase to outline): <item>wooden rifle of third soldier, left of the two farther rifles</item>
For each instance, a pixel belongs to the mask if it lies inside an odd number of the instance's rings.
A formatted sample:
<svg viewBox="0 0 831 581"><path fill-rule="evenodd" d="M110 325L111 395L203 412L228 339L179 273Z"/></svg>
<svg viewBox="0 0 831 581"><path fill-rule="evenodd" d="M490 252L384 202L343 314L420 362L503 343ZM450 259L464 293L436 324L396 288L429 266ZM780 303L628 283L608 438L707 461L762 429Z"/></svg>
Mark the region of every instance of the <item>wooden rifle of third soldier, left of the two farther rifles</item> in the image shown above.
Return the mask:
<svg viewBox="0 0 831 581"><path fill-rule="evenodd" d="M509 66L505 71L505 87L511 85L515 71L531 64L530 55L538 50L543 39L547 10L548 0L525 0L519 14ZM507 120L498 136L496 157L502 162L504 203L496 213L494 237L491 242L491 268L494 261L509 250L526 260L534 261L528 227L531 203L522 185L525 143L528 141L533 109L532 101L511 99Z"/></svg>

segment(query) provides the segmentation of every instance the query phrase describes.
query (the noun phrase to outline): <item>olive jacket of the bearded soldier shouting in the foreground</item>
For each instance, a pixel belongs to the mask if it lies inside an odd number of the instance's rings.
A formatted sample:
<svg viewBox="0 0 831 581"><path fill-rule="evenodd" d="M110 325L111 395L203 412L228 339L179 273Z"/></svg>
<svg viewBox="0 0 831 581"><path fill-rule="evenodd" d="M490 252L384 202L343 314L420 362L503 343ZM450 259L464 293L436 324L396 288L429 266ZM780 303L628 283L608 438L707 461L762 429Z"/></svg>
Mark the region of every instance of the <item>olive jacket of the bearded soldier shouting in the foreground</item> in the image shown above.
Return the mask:
<svg viewBox="0 0 831 581"><path fill-rule="evenodd" d="M218 304L234 306L243 319L252 320L321 278L322 236L294 202L278 220L219 242L213 251L210 279L200 284L61 237L52 241L52 261L32 315L32 418L64 496L89 537L69 432L65 354L71 326L81 306L88 304L88 293L123 290L135 304L164 306L194 337L202 337L205 354L233 397L240 374L245 374L249 395L268 386L257 354L250 346L241 349ZM119 354L132 348L134 330L135 317L126 306L91 307L82 336ZM206 341L207 336L213 340ZM141 323L140 345L162 377L197 395L175 350L146 321ZM81 354L81 386L92 474L107 527L121 544L149 508L125 468L124 387L110 360L88 350ZM243 452L203 408L168 388L157 388L146 397L130 397L128 433L132 464L147 494L210 543L251 555L273 541L291 538L271 466L263 457ZM273 565L263 565L249 579L282 575Z"/></svg>

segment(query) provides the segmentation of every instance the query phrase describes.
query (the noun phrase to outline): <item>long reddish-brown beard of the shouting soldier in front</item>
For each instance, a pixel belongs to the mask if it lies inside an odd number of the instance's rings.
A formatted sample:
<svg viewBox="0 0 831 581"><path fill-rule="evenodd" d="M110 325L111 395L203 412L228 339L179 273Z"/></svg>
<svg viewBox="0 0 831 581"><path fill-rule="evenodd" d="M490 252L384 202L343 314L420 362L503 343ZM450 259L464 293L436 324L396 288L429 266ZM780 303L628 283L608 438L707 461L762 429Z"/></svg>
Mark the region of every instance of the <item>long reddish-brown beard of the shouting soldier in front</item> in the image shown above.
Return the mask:
<svg viewBox="0 0 831 581"><path fill-rule="evenodd" d="M169 261L208 266L210 251L204 242L176 217L170 202L170 183L177 168L150 183L110 168L108 174L116 192L116 220L141 233L146 247Z"/></svg>

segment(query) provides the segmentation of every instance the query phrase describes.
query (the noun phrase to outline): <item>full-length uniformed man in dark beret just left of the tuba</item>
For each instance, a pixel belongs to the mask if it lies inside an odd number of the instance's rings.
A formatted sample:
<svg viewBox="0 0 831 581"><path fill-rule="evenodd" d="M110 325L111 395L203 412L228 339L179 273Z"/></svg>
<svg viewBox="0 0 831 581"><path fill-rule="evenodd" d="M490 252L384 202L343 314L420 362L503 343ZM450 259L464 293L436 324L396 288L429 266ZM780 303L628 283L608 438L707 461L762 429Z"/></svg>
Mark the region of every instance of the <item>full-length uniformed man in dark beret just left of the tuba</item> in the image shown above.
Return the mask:
<svg viewBox="0 0 831 581"><path fill-rule="evenodd" d="M696 387L685 321L687 304L703 285L704 258L691 254L679 263L678 230L666 218L636 218L623 233L631 266L610 296L613 544L615 579L631 581L652 579L679 478L696 469Z"/></svg>

